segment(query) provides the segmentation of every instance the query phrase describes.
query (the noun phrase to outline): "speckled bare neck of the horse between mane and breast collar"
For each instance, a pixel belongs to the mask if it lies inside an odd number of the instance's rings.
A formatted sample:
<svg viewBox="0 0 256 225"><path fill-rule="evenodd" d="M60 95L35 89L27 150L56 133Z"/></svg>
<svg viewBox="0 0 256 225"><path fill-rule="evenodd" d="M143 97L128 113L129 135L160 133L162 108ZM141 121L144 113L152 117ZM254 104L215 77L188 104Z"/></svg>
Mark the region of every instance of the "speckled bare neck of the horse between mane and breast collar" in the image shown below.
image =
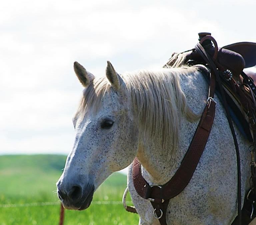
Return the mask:
<svg viewBox="0 0 256 225"><path fill-rule="evenodd" d="M203 76L197 74L191 77L181 76L181 88L187 97L189 107L195 113L202 112L207 99L208 85ZM165 184L179 168L181 161L194 136L198 121L190 122L180 115L180 137L177 150L172 148L172 140L163 148L161 138L141 137L137 158L141 162L142 174L149 183Z"/></svg>

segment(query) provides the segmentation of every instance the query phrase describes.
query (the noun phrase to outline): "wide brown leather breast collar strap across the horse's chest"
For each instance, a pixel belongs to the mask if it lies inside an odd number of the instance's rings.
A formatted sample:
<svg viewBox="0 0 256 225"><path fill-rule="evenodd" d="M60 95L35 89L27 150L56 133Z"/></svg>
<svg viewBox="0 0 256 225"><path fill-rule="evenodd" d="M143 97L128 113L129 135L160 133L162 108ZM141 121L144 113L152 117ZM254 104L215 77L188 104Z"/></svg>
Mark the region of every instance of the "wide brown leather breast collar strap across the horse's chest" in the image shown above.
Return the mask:
<svg viewBox="0 0 256 225"><path fill-rule="evenodd" d="M212 93L209 91L209 93ZM207 105L196 129L189 149L184 156L179 169L163 186L150 186L143 178L141 164L137 158L133 161L133 184L137 193L144 199L151 201L153 214L161 225L166 225L166 210L169 200L183 191L197 167L199 159L207 143L215 116L216 102L208 98ZM161 215L162 214L162 215Z"/></svg>

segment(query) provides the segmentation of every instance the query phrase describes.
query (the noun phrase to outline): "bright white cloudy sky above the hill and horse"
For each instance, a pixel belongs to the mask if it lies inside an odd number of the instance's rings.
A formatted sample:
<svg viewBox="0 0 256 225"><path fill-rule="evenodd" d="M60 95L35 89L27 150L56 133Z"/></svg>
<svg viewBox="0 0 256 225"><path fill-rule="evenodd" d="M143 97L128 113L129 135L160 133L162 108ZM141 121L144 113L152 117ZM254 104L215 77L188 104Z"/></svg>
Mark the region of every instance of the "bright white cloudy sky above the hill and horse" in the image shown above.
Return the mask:
<svg viewBox="0 0 256 225"><path fill-rule="evenodd" d="M161 68L198 32L219 46L256 42L255 0L9 0L0 7L0 154L68 154L83 87L95 76Z"/></svg>

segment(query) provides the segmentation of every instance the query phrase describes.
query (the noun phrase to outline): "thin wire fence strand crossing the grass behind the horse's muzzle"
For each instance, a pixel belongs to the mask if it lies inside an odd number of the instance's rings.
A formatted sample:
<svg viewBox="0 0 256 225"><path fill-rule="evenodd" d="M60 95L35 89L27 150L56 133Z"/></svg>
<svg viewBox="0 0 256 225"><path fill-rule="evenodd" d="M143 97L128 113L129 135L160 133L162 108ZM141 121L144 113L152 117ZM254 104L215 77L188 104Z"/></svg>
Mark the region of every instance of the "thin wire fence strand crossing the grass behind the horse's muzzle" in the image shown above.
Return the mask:
<svg viewBox="0 0 256 225"><path fill-rule="evenodd" d="M131 204L132 202L127 202ZM2 204L0 208L15 208L15 207L31 207L31 206L47 206L47 205L59 205L58 202L32 202L32 203L18 203L18 204ZM92 205L122 205L121 201L94 201Z"/></svg>

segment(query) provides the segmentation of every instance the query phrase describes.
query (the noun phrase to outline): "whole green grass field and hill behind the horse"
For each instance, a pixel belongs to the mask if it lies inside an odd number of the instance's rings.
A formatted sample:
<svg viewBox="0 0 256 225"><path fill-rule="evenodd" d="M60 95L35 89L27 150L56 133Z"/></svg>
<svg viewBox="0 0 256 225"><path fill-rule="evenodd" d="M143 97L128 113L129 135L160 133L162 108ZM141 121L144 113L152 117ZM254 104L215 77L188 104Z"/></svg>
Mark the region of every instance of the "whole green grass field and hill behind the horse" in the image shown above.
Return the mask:
<svg viewBox="0 0 256 225"><path fill-rule="evenodd" d="M0 156L0 225L58 225L60 203L21 205L58 201L55 183L65 159L62 155ZM99 203L121 201L125 187L126 176L114 173L95 192L87 210L65 210L64 225L137 225L138 215L126 212L121 204ZM20 205L3 207L6 204Z"/></svg>

